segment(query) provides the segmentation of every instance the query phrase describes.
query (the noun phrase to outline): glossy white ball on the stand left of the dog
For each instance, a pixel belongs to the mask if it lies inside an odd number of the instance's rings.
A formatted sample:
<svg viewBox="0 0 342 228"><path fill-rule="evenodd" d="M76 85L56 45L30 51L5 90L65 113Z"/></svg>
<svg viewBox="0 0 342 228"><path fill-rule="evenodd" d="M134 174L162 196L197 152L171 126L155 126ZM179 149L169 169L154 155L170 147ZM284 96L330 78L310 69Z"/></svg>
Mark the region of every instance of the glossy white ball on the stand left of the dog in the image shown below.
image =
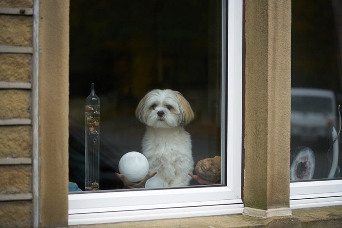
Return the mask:
<svg viewBox="0 0 342 228"><path fill-rule="evenodd" d="M121 157L119 172L125 175L130 182L138 182L144 179L149 172L149 162L146 157L136 151L131 151Z"/></svg>

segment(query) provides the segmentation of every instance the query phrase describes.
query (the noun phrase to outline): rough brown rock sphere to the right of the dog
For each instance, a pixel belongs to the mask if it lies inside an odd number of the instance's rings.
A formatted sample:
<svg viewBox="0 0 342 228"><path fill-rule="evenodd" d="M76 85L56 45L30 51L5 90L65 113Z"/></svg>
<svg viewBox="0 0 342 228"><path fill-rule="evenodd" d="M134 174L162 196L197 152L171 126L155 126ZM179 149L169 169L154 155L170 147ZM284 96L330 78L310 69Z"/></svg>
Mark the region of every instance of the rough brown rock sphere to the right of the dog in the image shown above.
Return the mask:
<svg viewBox="0 0 342 228"><path fill-rule="evenodd" d="M198 161L195 171L203 180L219 183L221 180L221 156Z"/></svg>

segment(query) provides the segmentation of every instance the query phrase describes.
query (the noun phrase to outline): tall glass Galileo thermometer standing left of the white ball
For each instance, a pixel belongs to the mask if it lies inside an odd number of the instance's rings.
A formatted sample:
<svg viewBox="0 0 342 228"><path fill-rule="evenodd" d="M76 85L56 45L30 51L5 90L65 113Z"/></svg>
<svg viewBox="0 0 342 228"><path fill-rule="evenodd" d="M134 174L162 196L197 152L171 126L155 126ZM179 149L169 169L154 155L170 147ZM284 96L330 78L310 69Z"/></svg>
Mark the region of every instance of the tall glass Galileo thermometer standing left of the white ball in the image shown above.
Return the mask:
<svg viewBox="0 0 342 228"><path fill-rule="evenodd" d="M100 99L94 83L85 99L85 191L98 190L100 172Z"/></svg>

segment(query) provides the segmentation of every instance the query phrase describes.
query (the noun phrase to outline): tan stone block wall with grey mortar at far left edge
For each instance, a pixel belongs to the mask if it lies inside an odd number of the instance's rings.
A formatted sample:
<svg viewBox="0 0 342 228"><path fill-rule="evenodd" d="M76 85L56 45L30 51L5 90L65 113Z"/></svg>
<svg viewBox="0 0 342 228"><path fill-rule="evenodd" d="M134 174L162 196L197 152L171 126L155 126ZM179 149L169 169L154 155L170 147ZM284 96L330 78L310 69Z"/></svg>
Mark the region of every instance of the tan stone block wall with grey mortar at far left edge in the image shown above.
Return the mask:
<svg viewBox="0 0 342 228"><path fill-rule="evenodd" d="M33 0L0 1L0 226L33 226Z"/></svg>

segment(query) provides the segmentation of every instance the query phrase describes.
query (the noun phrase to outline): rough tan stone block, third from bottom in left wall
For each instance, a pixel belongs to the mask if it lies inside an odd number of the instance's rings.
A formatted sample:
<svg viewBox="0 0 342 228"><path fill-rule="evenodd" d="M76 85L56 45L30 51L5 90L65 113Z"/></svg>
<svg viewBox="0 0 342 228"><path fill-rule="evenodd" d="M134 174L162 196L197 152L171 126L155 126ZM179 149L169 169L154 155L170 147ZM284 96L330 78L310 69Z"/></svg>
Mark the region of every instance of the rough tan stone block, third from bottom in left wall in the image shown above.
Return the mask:
<svg viewBox="0 0 342 228"><path fill-rule="evenodd" d="M31 126L1 126L0 158L31 157Z"/></svg>

